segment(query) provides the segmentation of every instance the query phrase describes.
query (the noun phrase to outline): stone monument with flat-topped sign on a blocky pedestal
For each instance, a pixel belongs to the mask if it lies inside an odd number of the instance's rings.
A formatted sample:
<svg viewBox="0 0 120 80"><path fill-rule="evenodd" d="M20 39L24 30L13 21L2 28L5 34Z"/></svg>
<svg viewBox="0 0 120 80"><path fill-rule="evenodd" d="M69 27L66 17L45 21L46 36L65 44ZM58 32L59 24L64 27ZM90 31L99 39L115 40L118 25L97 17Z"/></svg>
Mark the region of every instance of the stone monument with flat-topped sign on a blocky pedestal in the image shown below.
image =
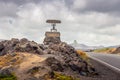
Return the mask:
<svg viewBox="0 0 120 80"><path fill-rule="evenodd" d="M61 42L60 32L57 31L55 26L56 24L61 23L61 21L60 20L47 20L46 23L50 23L52 25L52 29L45 33L45 39L43 43L45 45L49 45L52 43L59 44Z"/></svg>

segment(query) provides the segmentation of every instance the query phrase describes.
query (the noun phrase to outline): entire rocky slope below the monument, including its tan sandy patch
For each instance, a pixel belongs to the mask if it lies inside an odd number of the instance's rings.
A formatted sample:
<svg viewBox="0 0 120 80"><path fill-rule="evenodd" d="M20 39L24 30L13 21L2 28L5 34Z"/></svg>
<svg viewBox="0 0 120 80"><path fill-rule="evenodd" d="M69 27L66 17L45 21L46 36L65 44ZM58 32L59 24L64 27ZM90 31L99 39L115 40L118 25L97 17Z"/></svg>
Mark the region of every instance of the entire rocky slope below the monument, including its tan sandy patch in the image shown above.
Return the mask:
<svg viewBox="0 0 120 80"><path fill-rule="evenodd" d="M63 80L63 75L69 78L64 80L76 80L80 75L96 74L95 69L64 42L43 45L25 38L5 40L0 42L0 55L0 80L10 76L13 80ZM56 74L62 75L61 79L54 79Z"/></svg>

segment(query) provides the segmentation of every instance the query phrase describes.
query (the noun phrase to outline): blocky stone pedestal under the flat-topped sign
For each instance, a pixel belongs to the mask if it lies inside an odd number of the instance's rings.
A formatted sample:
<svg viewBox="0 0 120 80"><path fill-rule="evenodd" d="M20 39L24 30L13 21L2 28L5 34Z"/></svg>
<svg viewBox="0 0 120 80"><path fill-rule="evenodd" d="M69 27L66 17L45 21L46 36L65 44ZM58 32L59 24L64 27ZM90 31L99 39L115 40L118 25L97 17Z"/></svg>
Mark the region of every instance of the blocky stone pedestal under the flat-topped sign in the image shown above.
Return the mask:
<svg viewBox="0 0 120 80"><path fill-rule="evenodd" d="M45 33L45 39L44 39L44 44L49 45L49 44L59 44L61 42L60 40L60 32L46 32Z"/></svg>

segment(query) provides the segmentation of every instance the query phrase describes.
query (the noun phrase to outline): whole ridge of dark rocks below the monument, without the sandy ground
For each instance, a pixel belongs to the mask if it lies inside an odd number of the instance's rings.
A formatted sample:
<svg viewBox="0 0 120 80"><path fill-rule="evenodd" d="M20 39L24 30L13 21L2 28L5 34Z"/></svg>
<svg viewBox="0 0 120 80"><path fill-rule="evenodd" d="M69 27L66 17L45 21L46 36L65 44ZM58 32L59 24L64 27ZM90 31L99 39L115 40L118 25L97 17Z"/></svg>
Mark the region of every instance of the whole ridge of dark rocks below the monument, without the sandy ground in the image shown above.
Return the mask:
<svg viewBox="0 0 120 80"><path fill-rule="evenodd" d="M39 66L40 69L37 68L36 70L35 68L35 70L33 70L33 68L30 70L30 72L38 72L37 74L42 71L45 72L46 70L48 72L57 71L61 73L76 72L78 75L84 76L94 75L96 73L95 69L90 66L87 61L83 60L72 46L65 42L44 45L37 44L36 42L29 41L25 38L21 40L11 39L0 42L0 55L11 54L14 52L27 52L45 57L46 59L43 63L37 63L37 65L42 64Z"/></svg>

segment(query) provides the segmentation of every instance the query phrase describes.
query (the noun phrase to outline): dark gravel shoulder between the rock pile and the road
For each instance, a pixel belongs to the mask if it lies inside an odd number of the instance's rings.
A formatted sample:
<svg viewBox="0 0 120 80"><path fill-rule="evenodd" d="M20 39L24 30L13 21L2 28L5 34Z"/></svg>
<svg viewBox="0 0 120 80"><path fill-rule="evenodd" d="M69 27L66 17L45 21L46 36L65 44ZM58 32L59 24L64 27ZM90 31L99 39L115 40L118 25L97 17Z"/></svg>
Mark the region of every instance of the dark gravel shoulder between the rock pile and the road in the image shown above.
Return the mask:
<svg viewBox="0 0 120 80"><path fill-rule="evenodd" d="M112 71L111 69L105 67L104 65L94 60L90 60L90 62L96 68L97 72L99 73L99 76L96 76L96 77L80 76L81 80L120 80L120 74Z"/></svg>

